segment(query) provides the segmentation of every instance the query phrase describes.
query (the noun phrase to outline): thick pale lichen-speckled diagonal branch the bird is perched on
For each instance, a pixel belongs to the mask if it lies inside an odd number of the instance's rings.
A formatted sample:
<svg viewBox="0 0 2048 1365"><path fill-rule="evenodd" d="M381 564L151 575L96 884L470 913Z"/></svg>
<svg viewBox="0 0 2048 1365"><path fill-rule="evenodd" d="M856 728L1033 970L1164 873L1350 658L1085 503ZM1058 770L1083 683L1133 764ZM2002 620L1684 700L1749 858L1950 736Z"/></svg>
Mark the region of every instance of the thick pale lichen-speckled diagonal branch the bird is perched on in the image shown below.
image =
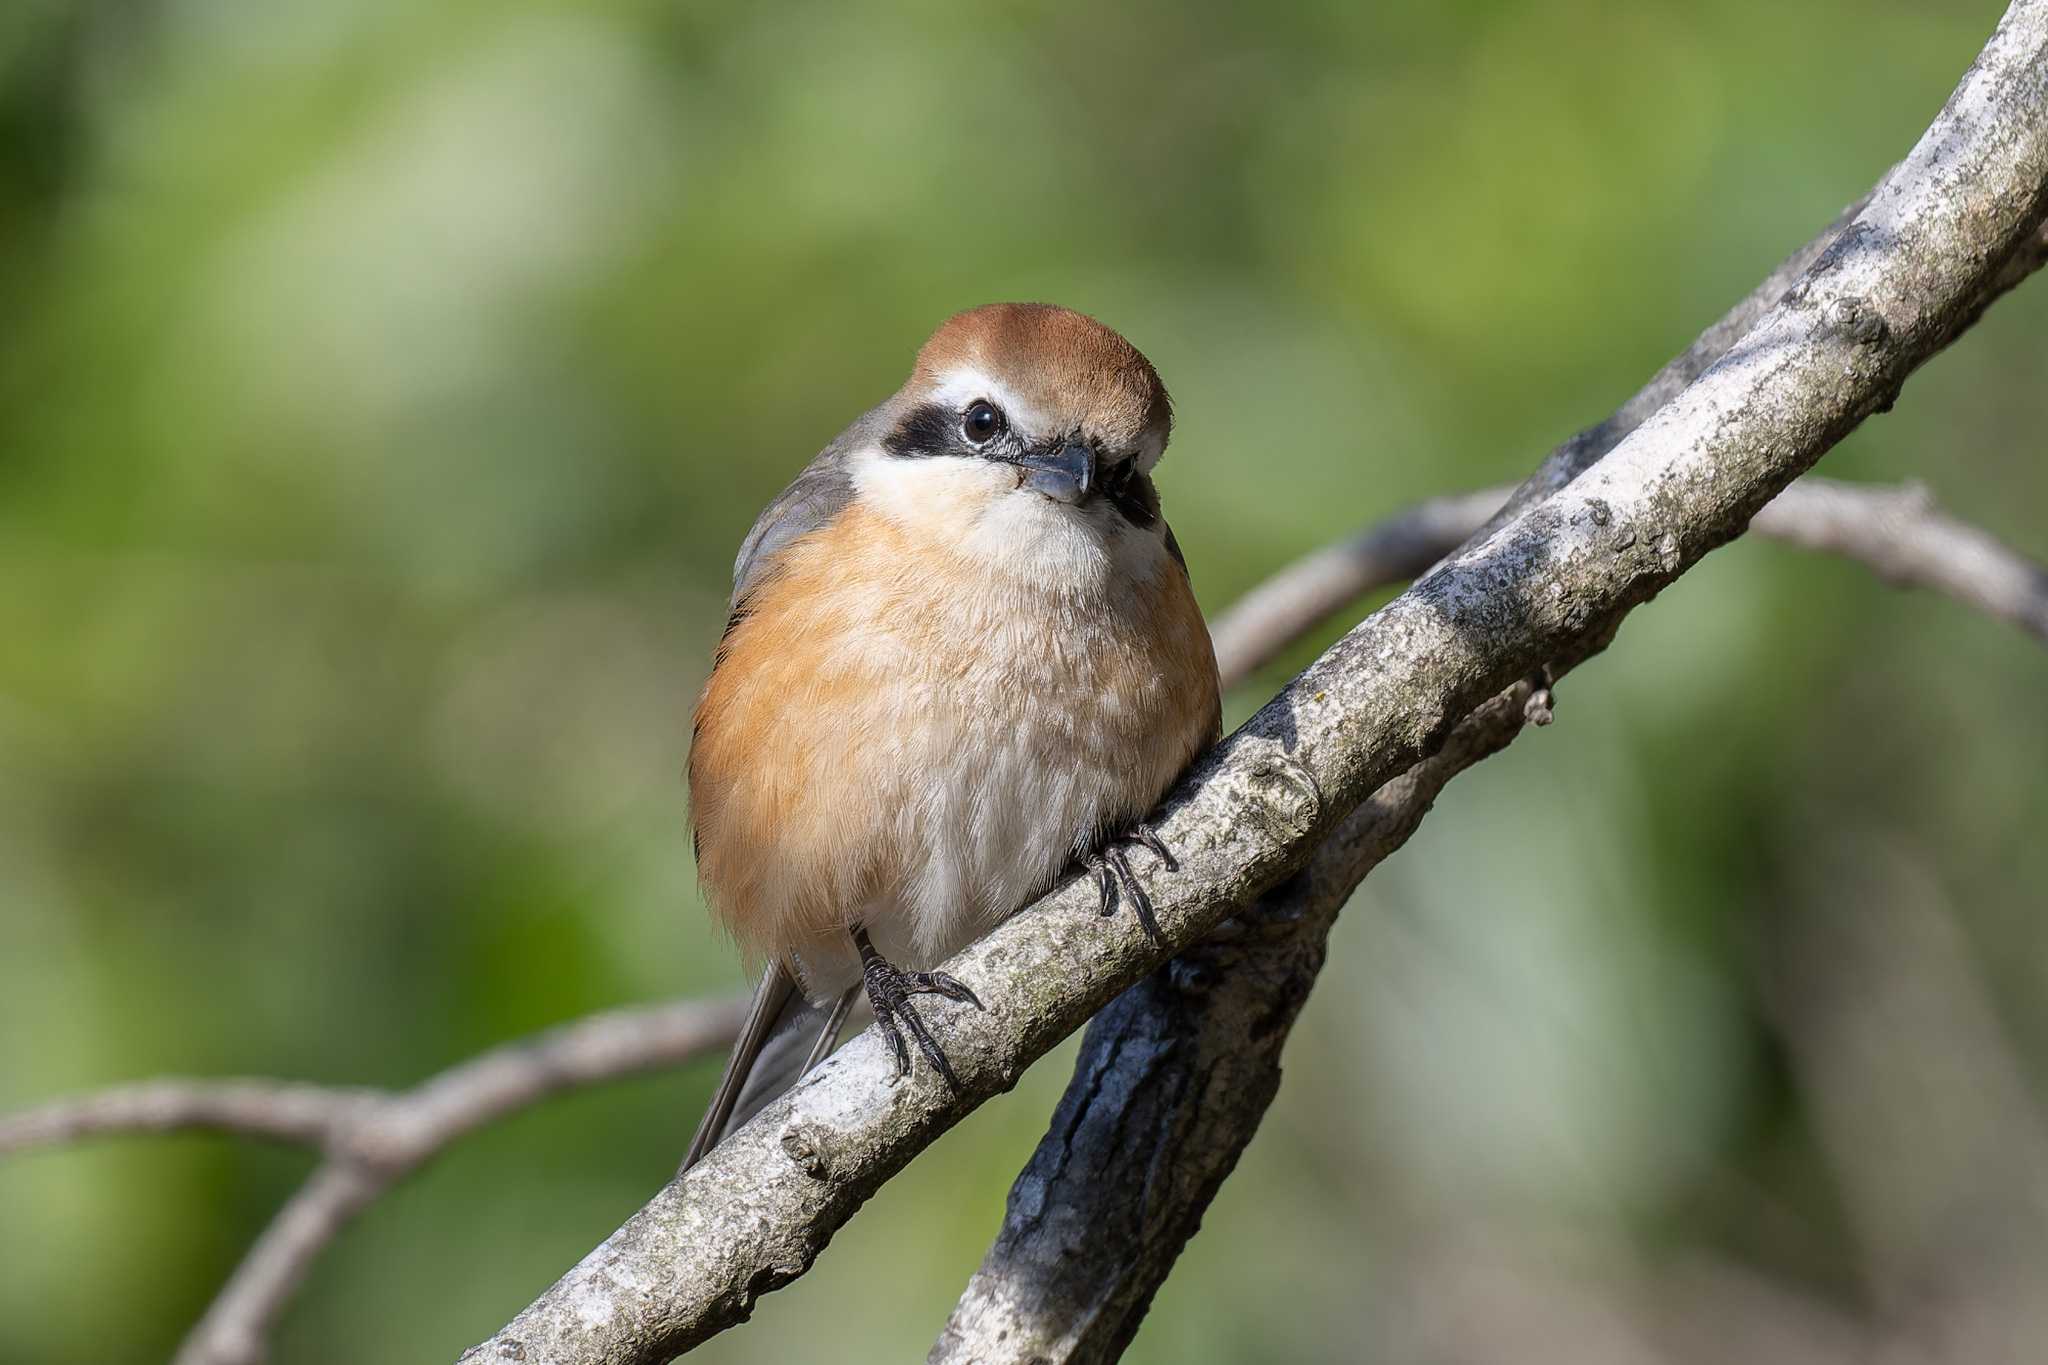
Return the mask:
<svg viewBox="0 0 2048 1365"><path fill-rule="evenodd" d="M1843 237L1726 356L1595 469L1331 647L1167 802L1161 941L1067 884L950 970L965 1083L891 1085L866 1031L670 1183L469 1361L659 1361L743 1320L973 1105L1169 956L1298 870L1487 698L1606 639L1739 534L1974 317L2048 201L2048 0L2019 0Z"/></svg>

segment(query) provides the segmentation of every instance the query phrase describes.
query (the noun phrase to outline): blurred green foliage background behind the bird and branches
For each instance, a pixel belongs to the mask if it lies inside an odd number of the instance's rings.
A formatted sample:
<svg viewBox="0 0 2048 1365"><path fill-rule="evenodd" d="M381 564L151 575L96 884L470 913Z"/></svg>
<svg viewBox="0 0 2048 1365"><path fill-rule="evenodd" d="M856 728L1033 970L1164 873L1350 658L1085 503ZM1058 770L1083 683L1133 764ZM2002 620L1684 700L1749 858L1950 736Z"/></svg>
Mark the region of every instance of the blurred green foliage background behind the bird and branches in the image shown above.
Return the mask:
<svg viewBox="0 0 2048 1365"><path fill-rule="evenodd" d="M0 1107L397 1087L737 988L680 780L731 555L940 317L1053 299L1157 362L1214 612L1604 415L1999 12L10 0ZM2048 555L2044 344L2032 284L1827 471ZM2038 1359L2044 698L2003 624L1710 559L1358 896L1130 1359ZM1067 1056L698 1359L922 1359ZM715 1068L463 1142L279 1359L453 1359ZM0 1359L168 1355L307 1169L0 1164Z"/></svg>

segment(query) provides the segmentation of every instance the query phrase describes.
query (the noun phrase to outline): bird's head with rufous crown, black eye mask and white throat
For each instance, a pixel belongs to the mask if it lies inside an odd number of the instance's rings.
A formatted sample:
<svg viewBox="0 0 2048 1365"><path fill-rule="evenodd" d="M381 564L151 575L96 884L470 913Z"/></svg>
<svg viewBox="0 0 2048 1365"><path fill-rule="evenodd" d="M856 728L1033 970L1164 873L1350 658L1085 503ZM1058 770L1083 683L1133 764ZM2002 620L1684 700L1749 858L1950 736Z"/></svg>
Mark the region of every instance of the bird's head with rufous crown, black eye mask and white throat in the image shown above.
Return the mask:
<svg viewBox="0 0 2048 1365"><path fill-rule="evenodd" d="M1094 317L1044 303L958 313L879 415L862 495L979 559L1092 577L1163 548L1151 469L1174 407L1151 362Z"/></svg>

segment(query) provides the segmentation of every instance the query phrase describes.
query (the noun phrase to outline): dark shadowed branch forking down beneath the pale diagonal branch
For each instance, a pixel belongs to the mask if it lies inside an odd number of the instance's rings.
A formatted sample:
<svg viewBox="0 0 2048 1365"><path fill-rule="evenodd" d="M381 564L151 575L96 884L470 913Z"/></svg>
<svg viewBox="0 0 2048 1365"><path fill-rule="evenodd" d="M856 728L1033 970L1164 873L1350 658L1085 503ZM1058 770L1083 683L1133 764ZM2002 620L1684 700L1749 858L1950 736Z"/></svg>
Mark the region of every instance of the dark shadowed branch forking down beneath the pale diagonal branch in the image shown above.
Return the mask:
<svg viewBox="0 0 2048 1365"><path fill-rule="evenodd" d="M1329 927L1456 774L1503 749L1538 686L1481 706L1309 866L1087 1025L1053 1128L932 1361L1114 1361L1280 1091Z"/></svg>

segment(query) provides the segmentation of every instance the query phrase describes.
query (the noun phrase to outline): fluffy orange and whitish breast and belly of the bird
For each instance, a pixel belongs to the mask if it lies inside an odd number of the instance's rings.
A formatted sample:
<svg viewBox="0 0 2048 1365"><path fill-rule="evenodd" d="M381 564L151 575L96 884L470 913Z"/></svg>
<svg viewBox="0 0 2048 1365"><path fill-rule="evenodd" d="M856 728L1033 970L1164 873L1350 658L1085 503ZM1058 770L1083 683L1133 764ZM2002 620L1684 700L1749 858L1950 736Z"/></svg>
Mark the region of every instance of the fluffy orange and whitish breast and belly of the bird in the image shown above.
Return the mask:
<svg viewBox="0 0 2048 1365"><path fill-rule="evenodd" d="M698 876L756 960L844 958L856 919L936 960L1151 808L1217 714L1163 553L1087 600L856 505L782 553L721 645L690 751Z"/></svg>

